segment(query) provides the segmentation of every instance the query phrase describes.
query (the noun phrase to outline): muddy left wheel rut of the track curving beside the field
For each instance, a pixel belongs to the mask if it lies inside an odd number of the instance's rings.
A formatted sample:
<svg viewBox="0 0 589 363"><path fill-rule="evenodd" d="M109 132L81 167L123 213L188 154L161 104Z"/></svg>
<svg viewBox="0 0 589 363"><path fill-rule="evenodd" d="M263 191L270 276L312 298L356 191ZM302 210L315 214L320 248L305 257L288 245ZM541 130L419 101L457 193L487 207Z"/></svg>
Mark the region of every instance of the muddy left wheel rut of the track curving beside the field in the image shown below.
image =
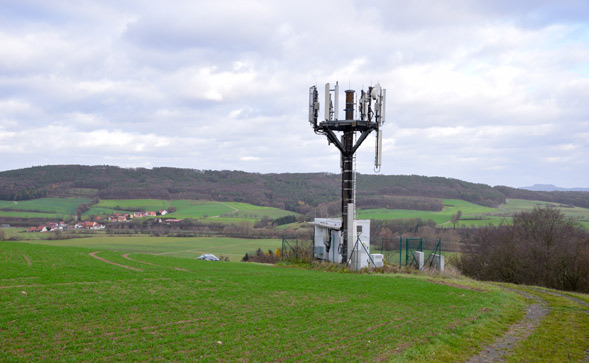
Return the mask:
<svg viewBox="0 0 589 363"><path fill-rule="evenodd" d="M505 288L507 289L507 288ZM534 303L528 305L526 316L516 324L513 324L509 330L501 337L499 337L494 343L483 347L481 352L470 358L468 363L475 362L502 362L503 357L513 351L513 348L520 341L526 339L540 324L540 321L548 314L549 308L546 301L540 297L528 294L527 292L508 289L525 296L528 299L534 300Z"/></svg>

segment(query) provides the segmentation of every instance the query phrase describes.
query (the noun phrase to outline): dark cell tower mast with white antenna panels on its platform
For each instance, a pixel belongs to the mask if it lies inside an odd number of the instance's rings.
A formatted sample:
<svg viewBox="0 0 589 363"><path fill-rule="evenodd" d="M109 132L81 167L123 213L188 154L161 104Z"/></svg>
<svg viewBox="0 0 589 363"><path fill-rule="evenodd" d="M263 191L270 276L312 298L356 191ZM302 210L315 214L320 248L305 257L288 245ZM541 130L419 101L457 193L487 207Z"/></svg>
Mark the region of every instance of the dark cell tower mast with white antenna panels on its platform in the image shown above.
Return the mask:
<svg viewBox="0 0 589 363"><path fill-rule="evenodd" d="M355 100L355 91L347 90L345 119L339 119L339 85L334 89L325 84L325 120L319 121L319 92L316 86L309 88L309 122L318 135L325 135L330 144L341 153L342 169L342 223L341 232L343 243L340 244L341 262L347 263L348 250L352 249L355 241L354 212L355 212L355 183L354 183L354 153L372 131L376 131L376 152L374 159L375 171L380 171L382 157L382 131L385 122L386 90L377 83L368 87L368 91L360 91L360 98ZM358 106L356 112L355 106ZM359 114L359 118L357 117ZM336 135L341 133L341 137ZM360 136L355 141L356 132ZM331 240L331 238L330 238ZM327 246L329 248L329 246Z"/></svg>

